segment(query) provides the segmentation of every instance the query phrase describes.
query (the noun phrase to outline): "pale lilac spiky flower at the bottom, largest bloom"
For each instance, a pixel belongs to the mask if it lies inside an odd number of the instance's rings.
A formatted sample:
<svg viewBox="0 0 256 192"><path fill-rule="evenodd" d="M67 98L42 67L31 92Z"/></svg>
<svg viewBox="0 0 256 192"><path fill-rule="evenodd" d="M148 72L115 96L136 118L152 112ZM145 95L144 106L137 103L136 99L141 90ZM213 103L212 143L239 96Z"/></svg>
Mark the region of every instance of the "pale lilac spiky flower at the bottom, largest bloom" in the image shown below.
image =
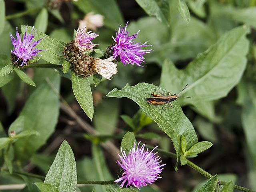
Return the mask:
<svg viewBox="0 0 256 192"><path fill-rule="evenodd" d="M162 166L160 165L160 157L157 156L157 153L152 153L155 148L149 152L148 149L144 151L145 144L139 148L139 144L136 149L136 144L134 142L134 147L130 149L130 152L126 154L121 148L122 156L120 157L120 162L118 164L124 170L122 177L115 180L115 182L120 182L123 180L120 187L123 187L127 181L126 187L132 185L139 189L139 187L146 186L155 182L158 178L161 178L159 174L162 172Z"/></svg>

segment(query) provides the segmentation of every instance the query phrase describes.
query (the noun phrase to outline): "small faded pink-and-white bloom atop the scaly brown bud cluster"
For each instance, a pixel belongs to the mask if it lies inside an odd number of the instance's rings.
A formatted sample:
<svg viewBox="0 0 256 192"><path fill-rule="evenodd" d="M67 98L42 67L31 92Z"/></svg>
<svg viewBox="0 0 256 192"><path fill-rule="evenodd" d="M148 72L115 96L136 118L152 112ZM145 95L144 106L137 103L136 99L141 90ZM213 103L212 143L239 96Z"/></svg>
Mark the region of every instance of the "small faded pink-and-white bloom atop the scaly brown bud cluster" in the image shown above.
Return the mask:
<svg viewBox="0 0 256 192"><path fill-rule="evenodd" d="M81 51L86 50L93 50L97 44L92 44L92 39L96 38L98 34L91 33L91 31L88 31L84 33L85 28L77 29L76 31L76 37L74 38L74 45L79 48Z"/></svg>

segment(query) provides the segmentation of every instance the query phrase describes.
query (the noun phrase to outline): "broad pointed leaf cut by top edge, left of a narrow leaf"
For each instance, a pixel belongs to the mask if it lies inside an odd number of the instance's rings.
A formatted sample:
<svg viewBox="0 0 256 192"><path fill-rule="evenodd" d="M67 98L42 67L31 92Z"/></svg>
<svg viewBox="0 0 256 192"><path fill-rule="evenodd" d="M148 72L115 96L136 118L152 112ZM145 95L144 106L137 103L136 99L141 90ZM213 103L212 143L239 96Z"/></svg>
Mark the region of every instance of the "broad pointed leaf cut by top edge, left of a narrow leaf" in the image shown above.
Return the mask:
<svg viewBox="0 0 256 192"><path fill-rule="evenodd" d="M167 0L136 0L136 2L149 16L156 16L160 22L170 25L170 9Z"/></svg>

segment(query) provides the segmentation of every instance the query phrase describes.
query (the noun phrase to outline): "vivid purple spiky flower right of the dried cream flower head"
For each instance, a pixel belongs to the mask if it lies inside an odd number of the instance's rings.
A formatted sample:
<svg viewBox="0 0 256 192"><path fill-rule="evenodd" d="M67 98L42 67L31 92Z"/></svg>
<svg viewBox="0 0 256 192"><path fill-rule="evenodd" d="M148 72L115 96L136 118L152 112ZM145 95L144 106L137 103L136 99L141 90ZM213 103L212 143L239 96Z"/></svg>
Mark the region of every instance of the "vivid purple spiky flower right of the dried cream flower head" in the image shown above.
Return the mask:
<svg viewBox="0 0 256 192"><path fill-rule="evenodd" d="M132 36L128 36L128 31L126 31L128 22L126 23L126 26L121 28L121 25L119 27L118 33L116 32L116 38L113 37L116 44L114 45L114 58L117 59L120 56L120 60L123 62L124 65L126 64L136 64L140 67L144 67L141 65L141 62L144 62L144 57L142 55L146 53L150 53L150 50L142 50L140 47L144 46L151 46L151 45L140 45L140 43L135 43L134 38L137 37L137 34L140 32L140 30Z"/></svg>

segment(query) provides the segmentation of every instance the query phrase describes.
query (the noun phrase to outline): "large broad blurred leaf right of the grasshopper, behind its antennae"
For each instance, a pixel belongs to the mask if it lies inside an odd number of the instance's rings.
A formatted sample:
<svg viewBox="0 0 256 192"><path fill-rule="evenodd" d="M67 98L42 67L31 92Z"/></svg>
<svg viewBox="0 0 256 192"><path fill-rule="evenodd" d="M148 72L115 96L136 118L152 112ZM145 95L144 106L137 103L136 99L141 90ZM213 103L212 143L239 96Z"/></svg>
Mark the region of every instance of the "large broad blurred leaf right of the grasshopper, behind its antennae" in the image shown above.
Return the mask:
<svg viewBox="0 0 256 192"><path fill-rule="evenodd" d="M226 96L244 72L249 46L247 33L248 28L244 26L231 30L182 70L166 60L162 66L160 87L178 94L188 84L181 96L193 99L179 98L182 104L196 105L197 102Z"/></svg>

